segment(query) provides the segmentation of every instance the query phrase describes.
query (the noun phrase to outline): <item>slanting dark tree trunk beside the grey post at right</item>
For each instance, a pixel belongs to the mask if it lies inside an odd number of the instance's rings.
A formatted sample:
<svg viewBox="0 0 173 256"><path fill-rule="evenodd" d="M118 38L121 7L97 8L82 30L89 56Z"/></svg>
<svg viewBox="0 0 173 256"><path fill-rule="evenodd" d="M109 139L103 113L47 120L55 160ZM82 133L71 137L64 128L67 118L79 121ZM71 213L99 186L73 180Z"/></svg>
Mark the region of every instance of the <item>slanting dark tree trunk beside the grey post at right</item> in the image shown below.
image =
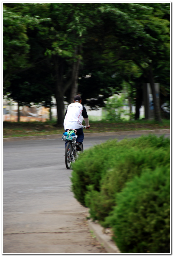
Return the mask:
<svg viewBox="0 0 173 256"><path fill-rule="evenodd" d="M159 123L162 123L161 113L160 113L160 106L159 106L159 102L158 102L157 97L156 97L156 91L155 91L155 86L154 86L154 77L153 77L151 66L149 68L149 83L150 83L150 86L151 86L151 92L152 92L152 97L153 97L155 120L158 121Z"/></svg>

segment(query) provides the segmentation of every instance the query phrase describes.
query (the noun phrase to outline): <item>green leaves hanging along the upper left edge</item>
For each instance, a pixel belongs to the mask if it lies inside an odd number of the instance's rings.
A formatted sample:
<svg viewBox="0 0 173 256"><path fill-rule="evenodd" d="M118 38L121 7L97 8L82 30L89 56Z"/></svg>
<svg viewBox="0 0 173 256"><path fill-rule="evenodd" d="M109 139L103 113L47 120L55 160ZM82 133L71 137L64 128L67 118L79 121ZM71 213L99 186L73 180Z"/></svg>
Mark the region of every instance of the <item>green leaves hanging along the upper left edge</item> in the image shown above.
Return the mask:
<svg viewBox="0 0 173 256"><path fill-rule="evenodd" d="M31 64L29 62L29 58L31 57L30 52L32 51L32 46L30 45L28 30L33 30L35 27L38 28L39 24L49 20L48 18L40 19L39 16L32 16L29 15L29 13L25 14L25 11L26 7L23 4L4 4L4 95L13 92L12 98L14 100L16 100L17 98L16 101L19 100L18 97L23 97L22 94L32 94L32 88L30 86L30 83L27 81L29 79L28 74L25 74L26 80L23 81L23 86L27 87L28 92L26 92L25 89L21 90L21 88L17 88L17 86L21 87L20 83L16 83L15 88L13 86L10 87L11 81L13 82L15 80L16 82L16 79L21 78L19 78L20 72L22 72L23 74L25 70L33 66L33 63ZM31 76L31 74L29 74L29 76ZM15 94L17 94L18 97ZM39 100L41 101L41 99ZM22 100L20 99L20 101ZM27 101L25 101L25 99L23 99L23 101L28 103ZM32 101L34 101L34 97L32 97Z"/></svg>

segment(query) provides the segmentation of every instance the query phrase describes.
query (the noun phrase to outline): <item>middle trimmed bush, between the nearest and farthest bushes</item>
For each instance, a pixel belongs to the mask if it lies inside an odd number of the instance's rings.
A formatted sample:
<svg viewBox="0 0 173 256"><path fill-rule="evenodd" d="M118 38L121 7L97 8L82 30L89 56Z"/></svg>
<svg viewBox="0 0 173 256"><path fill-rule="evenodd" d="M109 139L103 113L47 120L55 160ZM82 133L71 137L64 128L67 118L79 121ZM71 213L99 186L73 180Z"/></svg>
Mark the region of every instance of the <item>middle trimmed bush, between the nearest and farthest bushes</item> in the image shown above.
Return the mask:
<svg viewBox="0 0 173 256"><path fill-rule="evenodd" d="M119 155L119 160L114 168L107 171L100 182L100 191L95 192L93 186L88 187L85 195L85 203L89 208L90 217L93 220L104 222L104 218L115 205L116 194L131 181L134 176L140 176L146 168L151 171L157 166L169 167L169 150L163 148L146 148L137 150L132 148ZM107 227L107 223L102 223Z"/></svg>

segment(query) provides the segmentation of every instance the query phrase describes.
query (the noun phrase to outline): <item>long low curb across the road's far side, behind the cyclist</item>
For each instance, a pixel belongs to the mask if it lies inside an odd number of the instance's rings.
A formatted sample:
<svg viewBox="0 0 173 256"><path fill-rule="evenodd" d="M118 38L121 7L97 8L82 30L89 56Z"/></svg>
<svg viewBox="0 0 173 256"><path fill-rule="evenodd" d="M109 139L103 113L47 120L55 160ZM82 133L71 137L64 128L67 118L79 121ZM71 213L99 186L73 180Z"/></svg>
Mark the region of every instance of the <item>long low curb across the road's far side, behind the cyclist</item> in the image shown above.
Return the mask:
<svg viewBox="0 0 173 256"><path fill-rule="evenodd" d="M99 133L85 133L85 137L99 137L99 136L116 136L116 135L135 135L135 134L168 134L169 129L161 130L138 130L138 131L119 131L119 132L99 132ZM38 136L24 136L24 137L11 137L4 138L6 141L19 141L19 140L42 140L42 139L61 139L62 134L52 134L52 135L38 135Z"/></svg>

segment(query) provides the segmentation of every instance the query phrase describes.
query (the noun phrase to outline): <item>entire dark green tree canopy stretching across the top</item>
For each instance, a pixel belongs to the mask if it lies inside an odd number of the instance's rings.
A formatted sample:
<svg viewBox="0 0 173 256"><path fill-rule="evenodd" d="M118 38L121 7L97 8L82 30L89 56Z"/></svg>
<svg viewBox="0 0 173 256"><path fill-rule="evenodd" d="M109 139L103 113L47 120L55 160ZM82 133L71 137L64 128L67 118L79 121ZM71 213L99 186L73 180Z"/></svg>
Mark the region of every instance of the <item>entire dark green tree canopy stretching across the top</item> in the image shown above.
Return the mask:
<svg viewBox="0 0 173 256"><path fill-rule="evenodd" d="M104 106L111 89L120 92L124 81L131 87L131 98L142 99L137 91L148 82L150 65L155 82L161 84L162 101L169 100L168 3L4 3L4 7L5 93L12 93L21 104L23 85L28 86L27 93L34 86L45 92L37 94L37 102L47 101L46 90L49 98L55 96L59 115L64 96L70 102L73 89L91 108ZM34 82L33 72L39 73ZM16 86L10 87L11 81ZM34 93L29 94L34 102Z"/></svg>

